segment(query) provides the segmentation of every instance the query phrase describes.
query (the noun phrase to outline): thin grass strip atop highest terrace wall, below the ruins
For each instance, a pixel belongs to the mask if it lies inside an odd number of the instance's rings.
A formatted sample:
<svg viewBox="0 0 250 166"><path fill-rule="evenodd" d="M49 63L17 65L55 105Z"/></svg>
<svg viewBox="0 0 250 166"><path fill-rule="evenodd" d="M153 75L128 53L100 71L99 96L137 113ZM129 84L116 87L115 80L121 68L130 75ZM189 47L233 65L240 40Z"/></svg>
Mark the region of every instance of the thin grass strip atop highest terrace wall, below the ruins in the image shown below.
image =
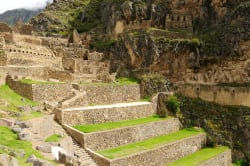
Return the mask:
<svg viewBox="0 0 250 166"><path fill-rule="evenodd" d="M82 85L97 85L97 86L111 86L111 85L133 85L138 84L138 80L135 78L117 78L115 82L106 83L106 82L82 82Z"/></svg>

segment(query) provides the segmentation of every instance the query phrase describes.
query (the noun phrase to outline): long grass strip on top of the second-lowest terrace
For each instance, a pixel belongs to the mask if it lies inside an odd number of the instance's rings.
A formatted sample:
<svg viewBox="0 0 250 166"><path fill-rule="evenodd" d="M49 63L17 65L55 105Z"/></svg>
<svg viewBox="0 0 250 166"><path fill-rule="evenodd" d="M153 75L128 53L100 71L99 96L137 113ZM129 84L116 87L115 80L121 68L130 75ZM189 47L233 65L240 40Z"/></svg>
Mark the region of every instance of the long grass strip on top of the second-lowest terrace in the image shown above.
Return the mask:
<svg viewBox="0 0 250 166"><path fill-rule="evenodd" d="M98 153L107 158L114 159L122 156L127 156L136 152L152 149L160 145L175 142L177 140L191 137L200 133L203 133L203 131L193 128L183 129L175 133L150 138L142 142L136 142L112 149L101 150Z"/></svg>

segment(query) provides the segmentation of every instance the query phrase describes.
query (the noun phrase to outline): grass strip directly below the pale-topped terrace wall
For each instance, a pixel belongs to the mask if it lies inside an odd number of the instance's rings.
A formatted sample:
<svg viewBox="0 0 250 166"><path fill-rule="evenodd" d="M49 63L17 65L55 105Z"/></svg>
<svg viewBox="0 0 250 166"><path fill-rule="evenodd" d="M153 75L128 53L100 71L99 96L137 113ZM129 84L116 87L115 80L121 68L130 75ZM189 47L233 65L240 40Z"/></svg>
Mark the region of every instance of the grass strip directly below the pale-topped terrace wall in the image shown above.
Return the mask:
<svg viewBox="0 0 250 166"><path fill-rule="evenodd" d="M108 122L108 123L102 123L102 124L73 126L73 127L84 133L91 133L95 131L111 130L115 128L134 126L134 125L145 124L145 123L155 122L155 121L160 121L160 120L165 120L165 119L167 118L160 118L158 115L153 115L147 118L126 120L126 121L119 121L119 122Z"/></svg>

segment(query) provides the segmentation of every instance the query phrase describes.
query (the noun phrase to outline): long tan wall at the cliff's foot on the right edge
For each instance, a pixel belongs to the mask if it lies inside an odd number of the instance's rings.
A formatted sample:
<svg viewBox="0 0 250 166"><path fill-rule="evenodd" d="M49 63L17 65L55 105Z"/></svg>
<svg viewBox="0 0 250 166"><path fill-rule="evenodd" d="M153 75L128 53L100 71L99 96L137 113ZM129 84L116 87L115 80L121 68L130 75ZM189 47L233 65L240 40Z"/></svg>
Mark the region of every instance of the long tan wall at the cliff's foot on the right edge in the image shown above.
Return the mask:
<svg viewBox="0 0 250 166"><path fill-rule="evenodd" d="M188 97L199 97L203 100L222 105L242 105L250 107L249 87L183 85L178 91Z"/></svg>

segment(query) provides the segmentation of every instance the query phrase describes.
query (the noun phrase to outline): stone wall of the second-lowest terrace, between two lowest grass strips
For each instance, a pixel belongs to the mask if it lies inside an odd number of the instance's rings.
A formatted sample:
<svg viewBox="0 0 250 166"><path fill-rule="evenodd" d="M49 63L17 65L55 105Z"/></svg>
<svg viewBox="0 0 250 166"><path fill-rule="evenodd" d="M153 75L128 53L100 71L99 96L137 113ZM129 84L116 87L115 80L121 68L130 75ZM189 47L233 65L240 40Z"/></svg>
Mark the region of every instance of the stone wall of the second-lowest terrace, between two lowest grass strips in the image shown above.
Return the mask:
<svg viewBox="0 0 250 166"><path fill-rule="evenodd" d="M88 152L99 166L165 166L172 161L200 150L205 144L206 134L201 133L193 137L117 159L107 159L91 150L88 150Z"/></svg>

